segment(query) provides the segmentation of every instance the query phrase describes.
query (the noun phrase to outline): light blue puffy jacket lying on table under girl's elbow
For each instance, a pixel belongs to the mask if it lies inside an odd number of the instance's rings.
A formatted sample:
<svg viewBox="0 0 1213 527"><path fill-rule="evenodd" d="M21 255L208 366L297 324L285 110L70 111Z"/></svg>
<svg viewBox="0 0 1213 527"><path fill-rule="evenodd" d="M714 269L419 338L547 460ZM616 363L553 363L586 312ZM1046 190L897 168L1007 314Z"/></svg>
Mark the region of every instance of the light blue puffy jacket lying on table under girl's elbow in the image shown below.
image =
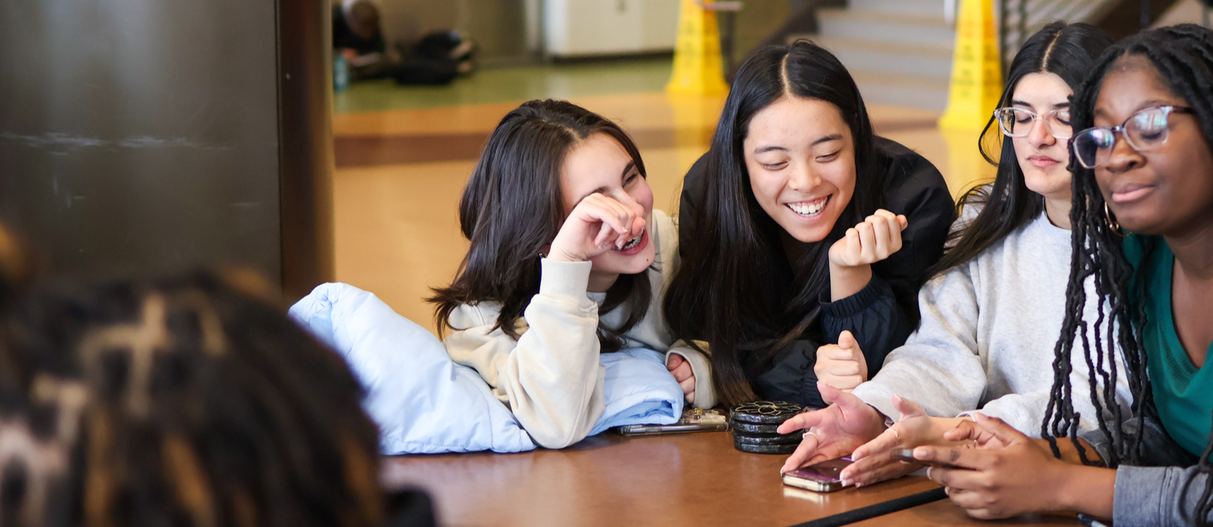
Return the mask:
<svg viewBox="0 0 1213 527"><path fill-rule="evenodd" d="M438 338L374 294L323 284L291 306L290 317L344 357L366 390L363 408L378 424L383 454L535 448L474 369L451 362ZM672 424L682 415L683 392L661 353L623 350L599 362L606 368L606 409L591 435Z"/></svg>

